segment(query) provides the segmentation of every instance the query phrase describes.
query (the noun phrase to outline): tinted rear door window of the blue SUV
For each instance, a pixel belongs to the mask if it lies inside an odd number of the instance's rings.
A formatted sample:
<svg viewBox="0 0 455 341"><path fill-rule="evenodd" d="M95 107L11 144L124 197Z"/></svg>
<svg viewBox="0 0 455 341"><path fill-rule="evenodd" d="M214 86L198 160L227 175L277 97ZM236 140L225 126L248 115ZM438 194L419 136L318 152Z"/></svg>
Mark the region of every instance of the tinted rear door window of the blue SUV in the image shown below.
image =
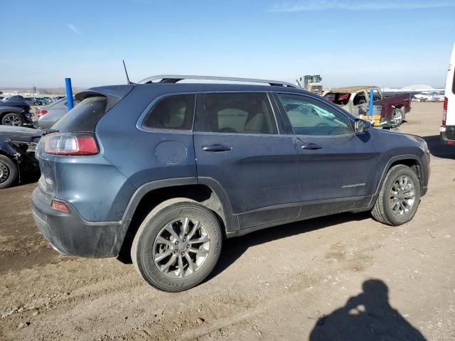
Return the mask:
<svg viewBox="0 0 455 341"><path fill-rule="evenodd" d="M234 134L277 134L267 94L205 94L210 131Z"/></svg>

